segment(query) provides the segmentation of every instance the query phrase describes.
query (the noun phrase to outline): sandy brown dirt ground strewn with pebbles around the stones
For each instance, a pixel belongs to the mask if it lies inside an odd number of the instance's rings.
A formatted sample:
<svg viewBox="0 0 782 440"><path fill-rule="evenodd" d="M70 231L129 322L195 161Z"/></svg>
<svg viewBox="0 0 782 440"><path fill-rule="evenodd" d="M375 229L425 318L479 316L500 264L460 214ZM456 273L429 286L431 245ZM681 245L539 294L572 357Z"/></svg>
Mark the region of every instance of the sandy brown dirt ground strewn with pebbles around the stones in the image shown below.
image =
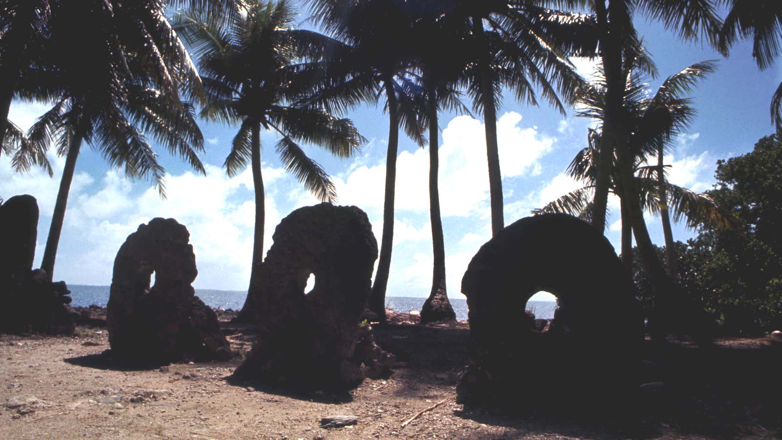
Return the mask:
<svg viewBox="0 0 782 440"><path fill-rule="evenodd" d="M637 420L596 423L458 405L468 326L420 326L415 319L395 314L393 323L375 327L378 344L400 362L389 377L367 379L343 395L231 383L241 355L118 369L101 355L109 348L101 319L82 322L68 337L0 335L0 438L782 437L782 350L765 339L647 348L658 381L644 388ZM236 352L250 348L251 327L224 323L224 331ZM321 428L321 417L333 415L359 419Z"/></svg>

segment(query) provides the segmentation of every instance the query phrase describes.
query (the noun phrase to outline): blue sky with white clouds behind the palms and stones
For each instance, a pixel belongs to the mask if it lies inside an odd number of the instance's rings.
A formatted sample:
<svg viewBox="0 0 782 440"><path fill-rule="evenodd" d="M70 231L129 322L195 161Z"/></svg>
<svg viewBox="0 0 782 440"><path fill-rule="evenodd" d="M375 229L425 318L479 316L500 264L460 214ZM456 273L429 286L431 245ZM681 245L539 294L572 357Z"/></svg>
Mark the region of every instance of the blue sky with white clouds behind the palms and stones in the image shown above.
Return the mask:
<svg viewBox="0 0 782 440"><path fill-rule="evenodd" d="M694 92L698 117L687 135L677 139L666 158L672 164L670 179L691 189L705 190L714 183L716 160L752 150L755 142L773 132L769 118L770 97L782 81L780 63L759 71L751 57L751 45L737 45L723 59L704 45L678 41L657 23L637 19L660 71L658 85L669 74L701 60L720 60L719 70L701 82ZM443 48L447 50L447 48ZM576 60L579 71L589 74L594 63ZM45 104L13 103L10 119L23 128L47 110ZM566 117L547 106L520 106L508 96L500 110L500 161L503 173L506 224L529 211L579 187L563 172L575 153L586 145L591 121ZM382 230L382 198L385 179L388 120L382 107L361 107L349 115L370 141L350 160L329 157L317 146L307 149L332 175L339 204L351 204L367 212L375 236ZM440 204L446 242L447 287L453 298L460 293L461 276L478 248L490 238L489 186L482 118L440 114ZM249 170L229 179L221 164L228 153L235 127L202 124L207 152L207 175L195 175L176 158L161 151L167 169L167 200L161 200L149 182L128 180L109 168L99 153L82 148L71 186L68 210L55 269L56 280L73 284L108 285L113 260L128 234L154 217L173 217L186 225L199 268L195 287L246 290L253 240L253 193ZM266 248L279 220L296 207L317 203L291 175L285 173L274 153L274 135L262 138L266 184ZM7 157L0 157L0 197L29 193L38 199L36 265L40 265L59 176L64 158L52 157L54 179L41 170L13 174ZM402 136L397 161L396 221L389 295L425 297L432 273L432 241L429 229L427 175L428 152ZM619 249L619 210L612 200L607 231ZM659 219L647 222L655 243L662 244ZM674 228L676 240L692 231ZM533 250L534 251L534 250Z"/></svg>

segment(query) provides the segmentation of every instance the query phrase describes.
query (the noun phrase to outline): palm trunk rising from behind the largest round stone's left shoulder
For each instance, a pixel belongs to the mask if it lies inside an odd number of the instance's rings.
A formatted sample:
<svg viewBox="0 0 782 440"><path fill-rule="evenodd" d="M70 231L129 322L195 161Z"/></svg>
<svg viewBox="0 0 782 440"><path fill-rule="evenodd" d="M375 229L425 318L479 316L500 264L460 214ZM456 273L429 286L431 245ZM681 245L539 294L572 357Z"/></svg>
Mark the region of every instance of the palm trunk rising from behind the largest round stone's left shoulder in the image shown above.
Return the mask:
<svg viewBox="0 0 782 440"><path fill-rule="evenodd" d="M472 31L478 47L483 47L483 20L472 17ZM489 163L489 197L491 203L491 232L497 235L504 227L502 202L502 175L500 175L500 153L497 146L497 107L494 102L494 87L486 60L486 52L481 52L479 71L483 104L483 126L486 129L486 159Z"/></svg>

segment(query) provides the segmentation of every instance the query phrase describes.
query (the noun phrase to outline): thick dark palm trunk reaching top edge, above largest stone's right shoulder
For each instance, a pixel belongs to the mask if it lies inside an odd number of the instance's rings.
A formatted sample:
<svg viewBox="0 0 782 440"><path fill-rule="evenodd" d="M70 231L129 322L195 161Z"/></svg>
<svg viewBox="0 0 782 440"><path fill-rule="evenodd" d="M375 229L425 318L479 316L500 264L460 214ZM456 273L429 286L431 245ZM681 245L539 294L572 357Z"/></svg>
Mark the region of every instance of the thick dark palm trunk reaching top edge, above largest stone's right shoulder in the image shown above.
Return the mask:
<svg viewBox="0 0 782 440"><path fill-rule="evenodd" d="M622 45L616 32L609 32L608 12L603 0L594 2L598 26L601 27L601 56L605 80L606 105L603 132L600 142L600 154L597 159L594 204L592 206L592 225L601 232L605 229L605 211L608 205L608 188L611 185L611 168L615 149L619 146L617 130L621 123L622 96L624 81L622 78Z"/></svg>

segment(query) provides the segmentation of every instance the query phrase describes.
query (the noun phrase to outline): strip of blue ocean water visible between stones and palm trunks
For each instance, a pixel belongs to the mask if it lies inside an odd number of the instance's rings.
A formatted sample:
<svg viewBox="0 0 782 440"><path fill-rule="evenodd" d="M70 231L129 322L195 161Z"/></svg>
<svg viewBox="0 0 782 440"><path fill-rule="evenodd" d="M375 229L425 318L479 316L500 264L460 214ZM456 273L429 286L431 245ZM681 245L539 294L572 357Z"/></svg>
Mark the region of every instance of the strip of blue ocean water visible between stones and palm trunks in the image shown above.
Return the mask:
<svg viewBox="0 0 782 440"><path fill-rule="evenodd" d="M70 298L73 298L71 305L88 306L100 305L106 307L109 301L109 286L82 286L79 284L69 284ZM244 305L246 291L238 290L210 290L195 289L195 294L208 306L213 308L234 308L239 309ZM410 312L411 310L421 310L426 298L409 297L387 297L386 307L396 312ZM464 321L467 319L467 301L463 298L449 298L450 305L454 307L456 319ZM551 319L554 317L554 308L557 304L554 301L529 301L527 309L531 310L536 318Z"/></svg>

